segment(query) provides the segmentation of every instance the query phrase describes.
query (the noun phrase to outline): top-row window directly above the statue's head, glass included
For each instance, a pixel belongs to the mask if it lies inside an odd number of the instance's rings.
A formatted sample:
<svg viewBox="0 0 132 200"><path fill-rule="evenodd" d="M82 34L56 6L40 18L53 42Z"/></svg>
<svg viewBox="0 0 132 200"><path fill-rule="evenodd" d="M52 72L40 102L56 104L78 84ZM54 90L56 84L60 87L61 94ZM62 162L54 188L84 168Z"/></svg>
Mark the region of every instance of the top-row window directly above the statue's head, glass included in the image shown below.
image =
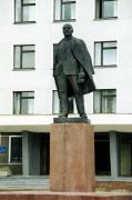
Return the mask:
<svg viewBox="0 0 132 200"><path fill-rule="evenodd" d="M75 19L74 0L54 0L54 20Z"/></svg>

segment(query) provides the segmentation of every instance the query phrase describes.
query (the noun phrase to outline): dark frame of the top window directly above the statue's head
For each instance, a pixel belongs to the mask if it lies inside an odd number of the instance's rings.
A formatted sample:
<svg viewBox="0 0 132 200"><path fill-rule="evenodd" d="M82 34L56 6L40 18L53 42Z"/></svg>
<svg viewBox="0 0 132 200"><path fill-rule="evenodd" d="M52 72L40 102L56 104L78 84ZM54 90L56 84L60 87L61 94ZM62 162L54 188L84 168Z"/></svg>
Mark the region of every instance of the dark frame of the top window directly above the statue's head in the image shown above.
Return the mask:
<svg viewBox="0 0 132 200"><path fill-rule="evenodd" d="M62 19L63 17L63 12L62 12L62 7L63 4L73 4L77 6L77 0L69 0L69 1L63 1L63 0L60 0L60 19L55 19L55 0L53 1L53 21L75 21L75 17L73 19Z"/></svg>

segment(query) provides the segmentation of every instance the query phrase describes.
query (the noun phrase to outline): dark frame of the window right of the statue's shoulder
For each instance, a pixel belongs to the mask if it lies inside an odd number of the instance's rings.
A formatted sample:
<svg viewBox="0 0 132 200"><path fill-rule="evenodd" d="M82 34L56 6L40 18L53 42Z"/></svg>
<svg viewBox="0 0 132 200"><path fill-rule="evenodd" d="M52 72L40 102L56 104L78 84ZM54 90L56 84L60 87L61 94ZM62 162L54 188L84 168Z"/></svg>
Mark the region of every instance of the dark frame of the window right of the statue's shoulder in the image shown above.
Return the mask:
<svg viewBox="0 0 132 200"><path fill-rule="evenodd" d="M116 62L115 62L115 64L103 64L103 50L105 49L115 49L115 53L116 53L116 50L118 50L118 46L115 46L115 47L108 47L108 48L105 48L105 47L103 47L103 44L104 43L112 43L112 42L115 42L115 44L118 44L118 41L116 40L111 40L111 41L95 41L94 42L94 68L112 68L112 67L116 67L118 64L116 64ZM97 43L100 43L101 44L101 58L100 58L100 61L101 61L101 64L99 66L99 64L95 64L95 44ZM116 59L116 58L115 58ZM115 60L116 61L116 60Z"/></svg>

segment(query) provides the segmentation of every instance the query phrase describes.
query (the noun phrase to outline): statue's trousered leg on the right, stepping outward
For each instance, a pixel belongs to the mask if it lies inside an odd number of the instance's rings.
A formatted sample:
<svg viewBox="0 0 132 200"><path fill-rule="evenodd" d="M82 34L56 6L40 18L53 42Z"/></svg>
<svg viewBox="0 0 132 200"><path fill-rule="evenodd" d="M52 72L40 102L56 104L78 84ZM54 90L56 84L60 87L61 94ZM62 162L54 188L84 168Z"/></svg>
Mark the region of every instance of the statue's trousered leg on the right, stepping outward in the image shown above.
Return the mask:
<svg viewBox="0 0 132 200"><path fill-rule="evenodd" d="M69 76L70 84L74 92L74 98L77 102L77 109L81 118L87 118L84 110L84 99L80 86L78 84L77 76Z"/></svg>

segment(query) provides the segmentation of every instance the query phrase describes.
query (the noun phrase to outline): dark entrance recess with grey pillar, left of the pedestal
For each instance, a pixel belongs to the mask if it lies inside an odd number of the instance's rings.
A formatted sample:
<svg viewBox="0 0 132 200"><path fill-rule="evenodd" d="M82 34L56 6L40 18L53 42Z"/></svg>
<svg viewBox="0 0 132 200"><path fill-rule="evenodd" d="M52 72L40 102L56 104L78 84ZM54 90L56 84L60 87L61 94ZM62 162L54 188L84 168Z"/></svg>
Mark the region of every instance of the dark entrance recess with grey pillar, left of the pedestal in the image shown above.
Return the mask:
<svg viewBox="0 0 132 200"><path fill-rule="evenodd" d="M22 134L23 176L45 176L50 169L50 134Z"/></svg>

